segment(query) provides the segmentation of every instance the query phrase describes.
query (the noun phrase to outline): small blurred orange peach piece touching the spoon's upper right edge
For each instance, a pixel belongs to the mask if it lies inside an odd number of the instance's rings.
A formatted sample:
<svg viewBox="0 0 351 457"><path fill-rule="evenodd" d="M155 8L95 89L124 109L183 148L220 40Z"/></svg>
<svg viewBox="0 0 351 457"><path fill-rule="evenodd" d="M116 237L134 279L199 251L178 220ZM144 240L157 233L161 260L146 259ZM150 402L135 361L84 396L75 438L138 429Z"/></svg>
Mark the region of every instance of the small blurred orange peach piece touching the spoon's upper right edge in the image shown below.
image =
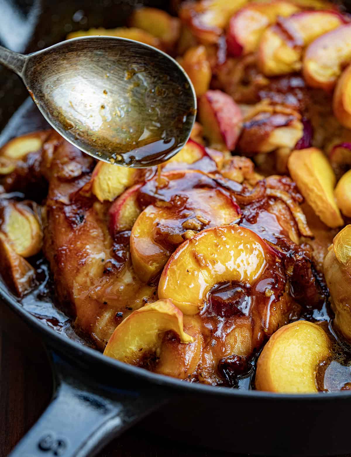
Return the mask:
<svg viewBox="0 0 351 457"><path fill-rule="evenodd" d="M180 64L187 72L194 85L196 96L201 97L210 88L212 70L207 58L206 48L197 46L190 48L180 59Z"/></svg>

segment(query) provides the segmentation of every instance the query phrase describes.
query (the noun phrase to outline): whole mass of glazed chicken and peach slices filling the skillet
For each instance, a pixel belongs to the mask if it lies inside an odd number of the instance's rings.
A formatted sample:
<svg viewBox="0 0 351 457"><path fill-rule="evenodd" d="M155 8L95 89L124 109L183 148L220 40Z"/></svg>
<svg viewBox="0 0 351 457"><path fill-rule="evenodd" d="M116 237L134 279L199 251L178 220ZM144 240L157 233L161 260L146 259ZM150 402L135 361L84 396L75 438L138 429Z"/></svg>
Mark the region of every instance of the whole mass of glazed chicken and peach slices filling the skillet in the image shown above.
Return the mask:
<svg viewBox="0 0 351 457"><path fill-rule="evenodd" d="M106 356L189 382L238 387L257 367L260 390L328 390L320 373L351 338L349 226L337 235L351 217L349 16L320 0L200 0L130 25L69 37L177 56L198 97L191 137L142 170L52 131L3 146L5 282L37 287L42 252L57 306Z"/></svg>

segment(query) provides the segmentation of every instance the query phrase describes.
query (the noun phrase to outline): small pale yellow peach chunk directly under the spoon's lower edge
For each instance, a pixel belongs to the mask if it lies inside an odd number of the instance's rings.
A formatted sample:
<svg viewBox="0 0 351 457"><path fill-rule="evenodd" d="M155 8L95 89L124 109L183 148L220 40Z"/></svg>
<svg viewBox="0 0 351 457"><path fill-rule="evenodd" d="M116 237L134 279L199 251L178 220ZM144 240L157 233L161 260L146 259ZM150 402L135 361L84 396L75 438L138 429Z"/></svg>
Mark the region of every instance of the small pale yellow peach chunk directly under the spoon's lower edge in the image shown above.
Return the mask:
<svg viewBox="0 0 351 457"><path fill-rule="evenodd" d="M135 184L138 170L99 162L91 175L91 191L100 202L113 202L127 187Z"/></svg>

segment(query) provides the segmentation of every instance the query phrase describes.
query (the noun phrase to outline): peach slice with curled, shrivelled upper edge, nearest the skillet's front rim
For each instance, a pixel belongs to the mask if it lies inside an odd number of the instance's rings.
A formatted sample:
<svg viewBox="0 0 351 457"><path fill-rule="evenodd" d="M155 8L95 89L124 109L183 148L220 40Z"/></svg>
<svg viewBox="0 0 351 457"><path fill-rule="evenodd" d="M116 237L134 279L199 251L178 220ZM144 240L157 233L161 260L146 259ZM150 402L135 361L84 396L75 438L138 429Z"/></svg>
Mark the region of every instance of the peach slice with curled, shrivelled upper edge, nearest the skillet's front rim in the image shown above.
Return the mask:
<svg viewBox="0 0 351 457"><path fill-rule="evenodd" d="M159 356L165 332L175 333L183 344L194 342L194 338L184 332L182 312L171 300L158 300L137 309L118 325L104 355L147 367L152 363L152 356L154 359Z"/></svg>

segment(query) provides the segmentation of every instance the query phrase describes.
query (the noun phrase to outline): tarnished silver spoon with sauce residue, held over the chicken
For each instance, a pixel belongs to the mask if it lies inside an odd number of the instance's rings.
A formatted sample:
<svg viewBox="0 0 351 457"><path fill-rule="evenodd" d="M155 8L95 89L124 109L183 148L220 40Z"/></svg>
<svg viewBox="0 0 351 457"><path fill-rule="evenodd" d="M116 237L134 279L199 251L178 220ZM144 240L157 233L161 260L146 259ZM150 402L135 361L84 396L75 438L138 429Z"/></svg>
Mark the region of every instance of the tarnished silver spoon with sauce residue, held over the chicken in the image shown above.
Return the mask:
<svg viewBox="0 0 351 457"><path fill-rule="evenodd" d="M162 51L126 38L79 37L23 55L0 47L46 120L105 162L157 165L187 142L196 115L193 85Z"/></svg>

